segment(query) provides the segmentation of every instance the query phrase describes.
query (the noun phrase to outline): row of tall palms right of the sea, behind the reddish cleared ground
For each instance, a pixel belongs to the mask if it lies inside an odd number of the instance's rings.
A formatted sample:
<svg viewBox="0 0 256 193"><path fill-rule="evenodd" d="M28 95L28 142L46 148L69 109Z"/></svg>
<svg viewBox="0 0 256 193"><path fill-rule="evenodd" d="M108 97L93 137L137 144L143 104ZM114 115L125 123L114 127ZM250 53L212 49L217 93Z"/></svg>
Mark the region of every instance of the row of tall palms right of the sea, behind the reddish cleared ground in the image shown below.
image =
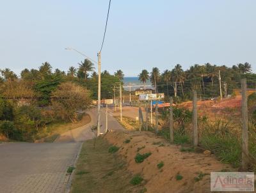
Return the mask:
<svg viewBox="0 0 256 193"><path fill-rule="evenodd" d="M220 96L220 85L223 93L227 88L227 94L231 95L233 89L240 88L242 78L248 79L249 88L256 87L256 75L252 73L252 66L249 63L239 63L232 67L210 63L196 64L188 70L183 70L182 66L177 64L173 69L164 70L163 73L154 67L151 72L144 69L138 75L144 86L150 80L156 93L165 93L166 96L172 95L184 100L191 99L193 89L204 98Z"/></svg>

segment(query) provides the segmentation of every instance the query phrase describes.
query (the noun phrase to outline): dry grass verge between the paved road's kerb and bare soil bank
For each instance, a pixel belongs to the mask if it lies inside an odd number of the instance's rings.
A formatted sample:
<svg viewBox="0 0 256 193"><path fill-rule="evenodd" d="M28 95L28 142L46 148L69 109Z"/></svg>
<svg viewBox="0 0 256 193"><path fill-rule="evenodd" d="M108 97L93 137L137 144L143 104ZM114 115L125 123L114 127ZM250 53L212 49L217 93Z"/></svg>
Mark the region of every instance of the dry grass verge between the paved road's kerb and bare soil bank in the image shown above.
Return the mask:
<svg viewBox="0 0 256 193"><path fill-rule="evenodd" d="M76 175L72 180L72 193L82 192L139 192L141 185L131 184L134 177L118 153L109 153L112 145L98 137L85 141L77 160Z"/></svg>

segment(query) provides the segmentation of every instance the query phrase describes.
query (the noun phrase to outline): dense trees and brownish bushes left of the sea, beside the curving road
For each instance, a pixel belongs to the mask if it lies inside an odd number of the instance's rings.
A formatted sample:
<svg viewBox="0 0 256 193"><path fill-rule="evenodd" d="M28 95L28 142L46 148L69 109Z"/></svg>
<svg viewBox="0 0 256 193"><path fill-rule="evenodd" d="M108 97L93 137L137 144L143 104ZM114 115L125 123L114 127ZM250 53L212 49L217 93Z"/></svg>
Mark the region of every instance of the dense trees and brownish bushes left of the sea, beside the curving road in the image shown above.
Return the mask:
<svg viewBox="0 0 256 193"><path fill-rule="evenodd" d="M47 133L47 125L81 120L78 112L97 98L97 73L84 59L67 72L52 70L48 63L38 69L25 68L18 76L9 68L0 70L0 134L19 141L35 141ZM89 73L92 73L91 76ZM114 82L124 73L102 72L102 98L111 96Z"/></svg>

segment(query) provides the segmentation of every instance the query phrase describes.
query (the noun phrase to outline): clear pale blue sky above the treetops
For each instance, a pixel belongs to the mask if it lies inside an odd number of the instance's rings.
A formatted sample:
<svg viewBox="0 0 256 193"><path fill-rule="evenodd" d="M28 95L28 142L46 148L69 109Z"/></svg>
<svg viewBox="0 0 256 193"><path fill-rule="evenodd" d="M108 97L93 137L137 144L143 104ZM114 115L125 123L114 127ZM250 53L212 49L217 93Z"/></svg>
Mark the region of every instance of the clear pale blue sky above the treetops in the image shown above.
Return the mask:
<svg viewBox="0 0 256 193"><path fill-rule="evenodd" d="M0 0L0 69L19 73L48 61L78 68L83 56L97 61L108 0ZM102 70L126 77L156 66L232 66L256 72L255 0L111 1ZM97 64L95 64L97 70Z"/></svg>

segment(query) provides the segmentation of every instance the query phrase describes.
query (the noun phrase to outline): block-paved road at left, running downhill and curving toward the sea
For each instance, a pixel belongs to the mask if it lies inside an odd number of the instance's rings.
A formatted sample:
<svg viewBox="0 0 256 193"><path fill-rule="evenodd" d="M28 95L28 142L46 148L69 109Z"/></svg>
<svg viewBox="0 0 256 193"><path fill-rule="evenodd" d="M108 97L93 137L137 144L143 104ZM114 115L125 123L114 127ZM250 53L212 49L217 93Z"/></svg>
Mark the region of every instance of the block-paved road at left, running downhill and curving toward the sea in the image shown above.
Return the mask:
<svg viewBox="0 0 256 193"><path fill-rule="evenodd" d="M88 113L92 122L61 135L58 143L0 144L0 193L65 192L70 177L67 168L74 165L81 141L92 139L90 128L97 122L96 112L97 109L91 109ZM103 132L104 112L101 117ZM112 116L108 118L109 128L124 129Z"/></svg>

